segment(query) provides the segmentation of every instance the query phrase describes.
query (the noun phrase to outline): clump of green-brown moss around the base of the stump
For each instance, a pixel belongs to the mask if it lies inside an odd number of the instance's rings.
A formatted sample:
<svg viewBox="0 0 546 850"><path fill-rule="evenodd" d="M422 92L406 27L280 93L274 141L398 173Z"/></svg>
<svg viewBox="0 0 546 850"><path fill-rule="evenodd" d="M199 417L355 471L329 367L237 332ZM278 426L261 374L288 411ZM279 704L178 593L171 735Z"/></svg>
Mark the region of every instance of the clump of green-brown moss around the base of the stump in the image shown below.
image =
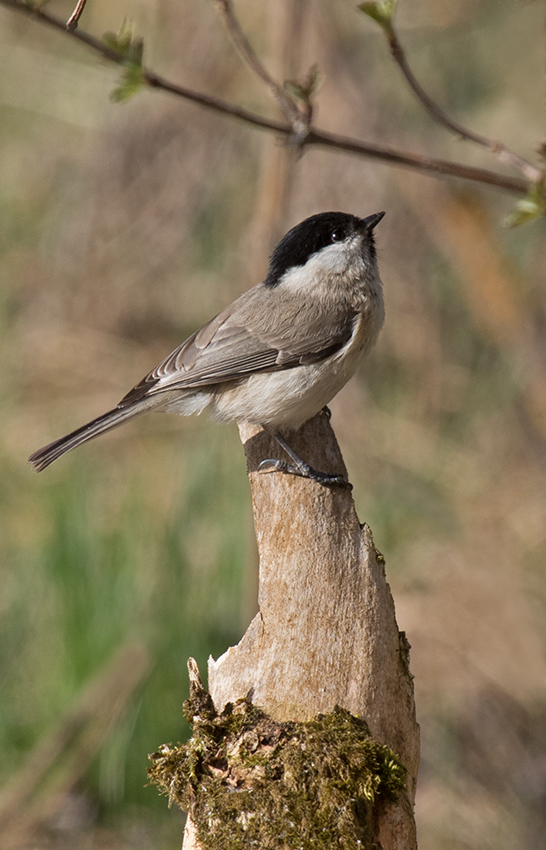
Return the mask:
<svg viewBox="0 0 546 850"><path fill-rule="evenodd" d="M405 770L364 720L336 707L278 723L248 700L218 715L195 689L184 707L193 737L162 746L148 773L190 812L205 850L373 846L375 807L396 800Z"/></svg>

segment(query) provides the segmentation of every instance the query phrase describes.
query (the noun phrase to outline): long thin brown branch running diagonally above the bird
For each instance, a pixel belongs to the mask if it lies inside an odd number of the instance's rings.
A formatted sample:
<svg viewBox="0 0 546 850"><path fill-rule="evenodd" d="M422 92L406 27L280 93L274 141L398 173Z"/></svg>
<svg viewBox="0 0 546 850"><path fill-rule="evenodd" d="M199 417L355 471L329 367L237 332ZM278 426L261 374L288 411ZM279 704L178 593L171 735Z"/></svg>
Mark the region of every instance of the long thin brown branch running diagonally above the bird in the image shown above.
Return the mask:
<svg viewBox="0 0 546 850"><path fill-rule="evenodd" d="M65 35L75 38L77 41L86 44L94 50L95 53L100 54L103 58L108 59L111 62L115 62L117 65L123 65L125 62L124 57L121 54L108 47L108 45L100 39L88 32L85 32L85 30L80 28L67 30L64 20L51 12L44 9L34 9L25 5L21 2L21 0L0 0L0 5L27 15L27 17L33 18L34 20L50 26ZM230 118L244 121L253 127L278 133L279 135L286 136L287 138L294 135L294 129L290 124L284 124L271 118L265 118L258 113L251 112L241 106L228 103L220 98L203 94L202 92L196 92L192 89L185 88L184 86L176 85L153 71L144 69L143 80L151 88L157 88L162 91L169 92L177 97L196 103L205 109L210 109ZM526 195L529 188L528 183L525 180L521 180L516 177L507 177L503 174L488 171L484 168L474 168L472 166L460 165L447 160L406 153L404 151L394 150L381 145L363 142L358 139L352 139L347 136L338 136L334 133L327 133L319 129L310 128L303 143L305 146L317 145L320 147L330 148L332 150L355 154L356 156L376 159L389 163L390 165L397 165L402 168L419 171L423 174L430 173L432 175L455 177L461 180L471 180L476 183L494 186L495 188L502 189L506 192L513 192L517 195Z"/></svg>

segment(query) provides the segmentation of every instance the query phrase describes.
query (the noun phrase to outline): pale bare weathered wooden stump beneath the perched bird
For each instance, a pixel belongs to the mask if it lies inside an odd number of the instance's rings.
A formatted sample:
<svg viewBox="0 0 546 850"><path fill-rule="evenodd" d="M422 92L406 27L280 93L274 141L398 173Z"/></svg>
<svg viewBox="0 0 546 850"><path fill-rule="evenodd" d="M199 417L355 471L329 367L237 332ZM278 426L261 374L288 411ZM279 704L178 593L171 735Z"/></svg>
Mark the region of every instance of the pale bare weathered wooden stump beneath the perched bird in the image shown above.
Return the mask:
<svg viewBox="0 0 546 850"><path fill-rule="evenodd" d="M241 642L209 662L220 711L251 692L276 720L308 720L336 705L364 718L407 769L406 790L375 815L382 850L416 848L413 803L419 763L408 645L398 631L383 559L348 490L282 473L260 474L279 457L271 438L242 426L260 555L260 610ZM328 419L293 439L318 469L344 472ZM191 823L184 850L198 848Z"/></svg>

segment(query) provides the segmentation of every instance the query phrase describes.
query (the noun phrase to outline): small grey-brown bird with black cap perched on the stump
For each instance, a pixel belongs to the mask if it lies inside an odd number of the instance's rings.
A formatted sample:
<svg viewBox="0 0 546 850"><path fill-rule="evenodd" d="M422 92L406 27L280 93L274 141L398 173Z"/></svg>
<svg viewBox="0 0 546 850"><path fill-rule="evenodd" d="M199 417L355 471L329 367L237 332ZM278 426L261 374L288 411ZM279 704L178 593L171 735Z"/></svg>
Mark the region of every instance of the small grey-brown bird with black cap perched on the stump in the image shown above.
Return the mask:
<svg viewBox="0 0 546 850"><path fill-rule="evenodd" d="M66 452L146 410L188 416L208 409L220 422L261 425L292 463L281 471L347 486L307 464L287 443L354 374L383 325L383 291L373 230L366 218L324 212L288 231L271 254L264 281L190 336L109 410L30 456L41 471Z"/></svg>

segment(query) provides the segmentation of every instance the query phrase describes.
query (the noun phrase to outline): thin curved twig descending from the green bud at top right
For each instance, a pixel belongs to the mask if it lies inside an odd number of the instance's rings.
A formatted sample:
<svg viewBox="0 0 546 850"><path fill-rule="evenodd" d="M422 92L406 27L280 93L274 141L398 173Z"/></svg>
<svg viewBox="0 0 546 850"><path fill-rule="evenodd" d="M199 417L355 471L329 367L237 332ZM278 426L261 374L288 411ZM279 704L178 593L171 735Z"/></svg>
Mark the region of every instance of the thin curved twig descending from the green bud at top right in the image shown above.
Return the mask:
<svg viewBox="0 0 546 850"><path fill-rule="evenodd" d="M449 117L449 115L446 115L443 109L441 109L438 104L432 100L416 79L408 64L406 54L404 53L404 49L400 44L398 35L396 34L392 23L388 28L385 28L385 31L394 61L402 71L414 94L417 95L417 98L422 103L428 114L435 121L439 124L443 124L443 126L447 127L448 130L453 130L453 132L462 139L466 139L469 142L475 142L477 145L487 148L500 162L515 168L523 174L527 180L530 180L531 183L538 183L544 180L544 173L540 168L533 165L533 163L529 162L529 160L524 159L524 157L519 156L519 154L514 151L511 151L502 142L489 139L487 136L481 136L479 133L474 133L472 130L468 130L466 127L463 127L457 121L454 121Z"/></svg>

